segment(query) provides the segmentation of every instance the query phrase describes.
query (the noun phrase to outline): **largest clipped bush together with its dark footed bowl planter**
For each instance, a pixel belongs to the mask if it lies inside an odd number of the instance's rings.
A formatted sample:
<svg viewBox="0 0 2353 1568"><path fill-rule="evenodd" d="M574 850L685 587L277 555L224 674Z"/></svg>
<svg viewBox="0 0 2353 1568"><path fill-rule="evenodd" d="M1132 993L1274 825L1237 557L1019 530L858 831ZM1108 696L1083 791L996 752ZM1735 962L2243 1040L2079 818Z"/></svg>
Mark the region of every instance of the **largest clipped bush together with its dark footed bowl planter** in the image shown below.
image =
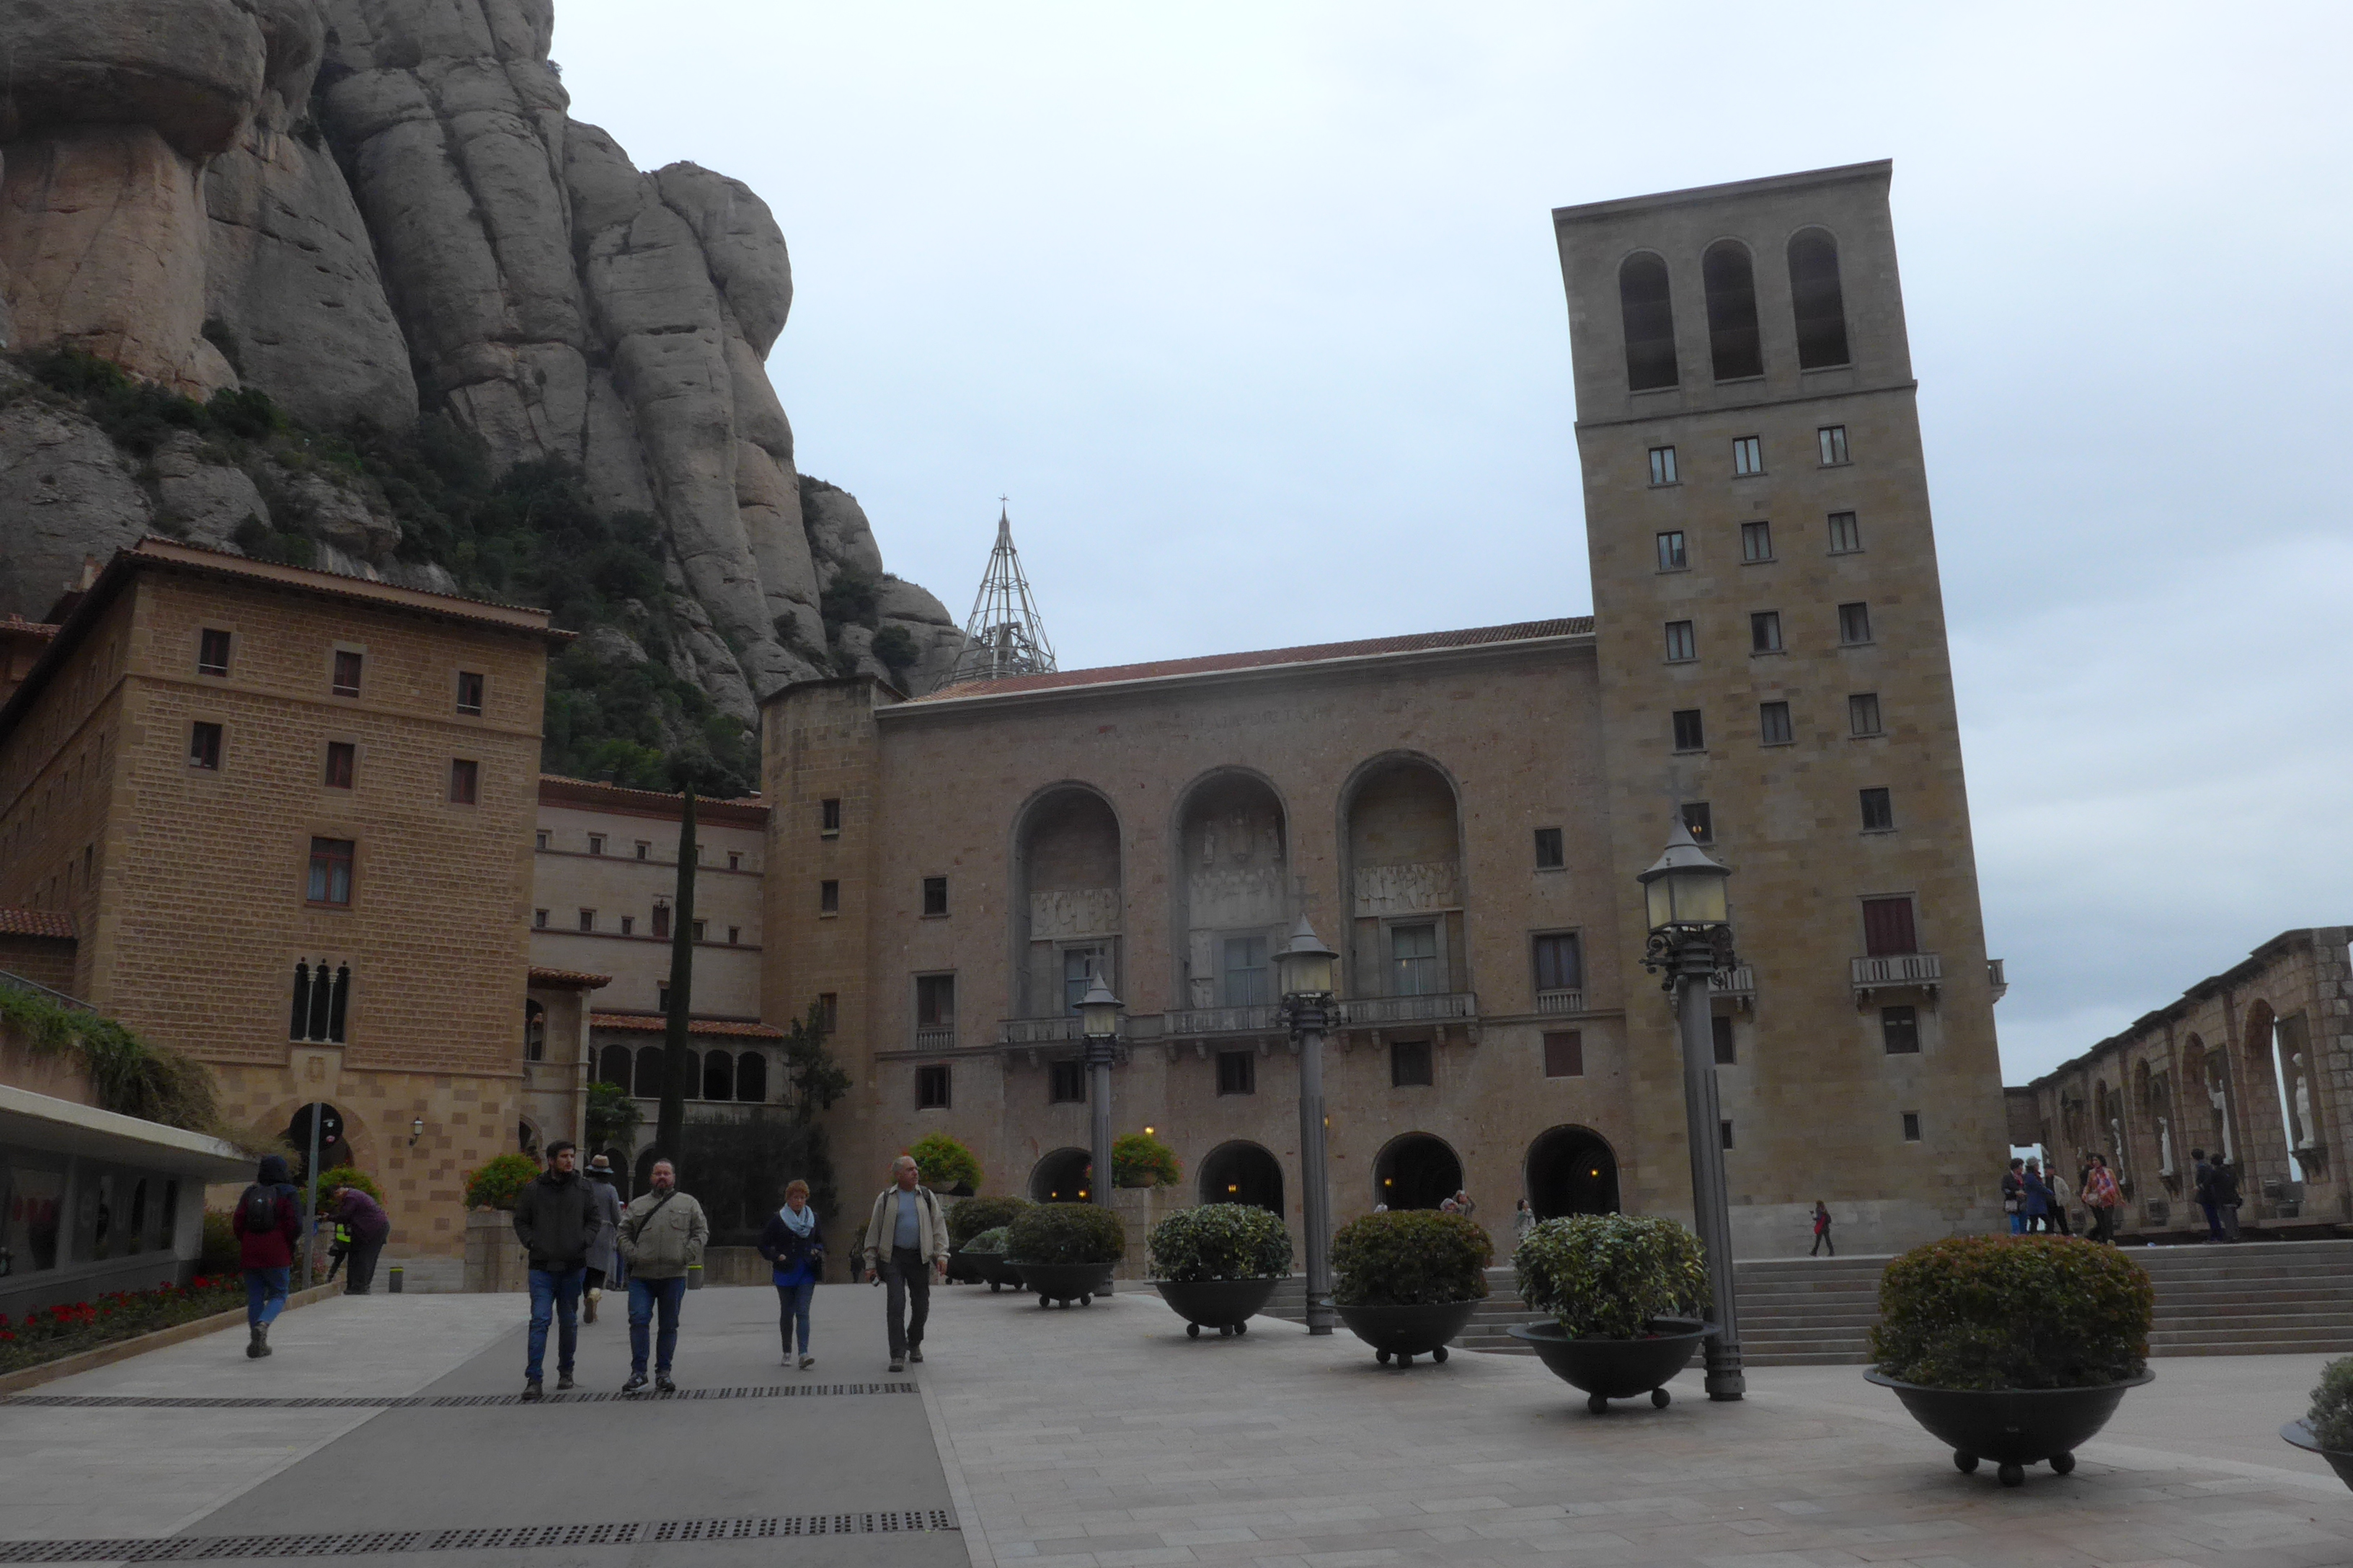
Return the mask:
<svg viewBox="0 0 2353 1568"><path fill-rule="evenodd" d="M1993 1460L2002 1486L2049 1460L2075 1469L2125 1389L2148 1371L2155 1291L2141 1265L2075 1237L1948 1237L1880 1274L1878 1366L1913 1420L1969 1474Z"/></svg>

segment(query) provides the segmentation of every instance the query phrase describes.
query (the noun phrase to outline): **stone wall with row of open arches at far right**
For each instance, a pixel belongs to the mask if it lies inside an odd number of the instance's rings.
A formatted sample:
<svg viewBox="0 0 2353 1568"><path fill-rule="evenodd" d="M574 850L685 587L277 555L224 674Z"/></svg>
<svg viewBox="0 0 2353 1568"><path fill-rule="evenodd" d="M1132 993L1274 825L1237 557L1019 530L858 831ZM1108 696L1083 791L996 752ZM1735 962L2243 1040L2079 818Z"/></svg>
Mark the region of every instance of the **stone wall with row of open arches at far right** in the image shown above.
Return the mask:
<svg viewBox="0 0 2353 1568"><path fill-rule="evenodd" d="M2252 1229L2353 1220L2353 1180L2334 1157L2353 1114L2348 938L2346 926L2282 931L2012 1088L2009 1140L2040 1145L2068 1180L2082 1152L2104 1152L2125 1190L2118 1234L2205 1234L2193 1150L2240 1168Z"/></svg>

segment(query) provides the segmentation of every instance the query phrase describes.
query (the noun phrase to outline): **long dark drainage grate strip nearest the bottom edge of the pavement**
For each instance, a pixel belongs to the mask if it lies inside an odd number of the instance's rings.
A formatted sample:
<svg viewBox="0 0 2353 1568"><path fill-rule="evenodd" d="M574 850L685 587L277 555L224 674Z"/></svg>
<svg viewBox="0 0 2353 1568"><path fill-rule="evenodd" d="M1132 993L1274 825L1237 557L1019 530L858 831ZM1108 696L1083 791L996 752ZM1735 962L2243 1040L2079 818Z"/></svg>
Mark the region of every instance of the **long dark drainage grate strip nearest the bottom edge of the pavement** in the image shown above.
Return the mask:
<svg viewBox="0 0 2353 1568"><path fill-rule="evenodd" d="M360 1556L367 1552L529 1552L534 1547L631 1547L779 1535L911 1535L955 1530L948 1509L772 1514L767 1519L656 1519L649 1523L525 1523L480 1530L355 1530L348 1535L172 1535L165 1540L12 1540L0 1563L221 1563L261 1556Z"/></svg>

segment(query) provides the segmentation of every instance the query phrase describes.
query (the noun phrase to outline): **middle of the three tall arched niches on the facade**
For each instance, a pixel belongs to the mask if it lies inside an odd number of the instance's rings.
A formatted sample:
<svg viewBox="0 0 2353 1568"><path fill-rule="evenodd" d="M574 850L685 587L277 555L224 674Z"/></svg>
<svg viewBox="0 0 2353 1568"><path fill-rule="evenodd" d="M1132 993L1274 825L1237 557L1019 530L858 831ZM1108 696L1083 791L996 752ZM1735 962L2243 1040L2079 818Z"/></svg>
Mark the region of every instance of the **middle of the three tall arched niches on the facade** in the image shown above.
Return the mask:
<svg viewBox="0 0 2353 1568"><path fill-rule="evenodd" d="M1176 811L1176 994L1188 1009L1275 999L1271 957L1289 926L1282 799L1257 773L1212 773Z"/></svg>

